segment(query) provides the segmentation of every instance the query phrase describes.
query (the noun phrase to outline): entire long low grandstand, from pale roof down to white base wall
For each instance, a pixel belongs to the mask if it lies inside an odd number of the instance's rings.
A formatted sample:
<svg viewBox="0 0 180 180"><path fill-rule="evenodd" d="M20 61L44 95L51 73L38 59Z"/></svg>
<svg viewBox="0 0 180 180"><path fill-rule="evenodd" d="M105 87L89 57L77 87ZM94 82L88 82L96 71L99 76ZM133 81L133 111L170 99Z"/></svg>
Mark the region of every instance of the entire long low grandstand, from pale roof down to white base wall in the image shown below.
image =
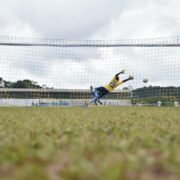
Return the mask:
<svg viewBox="0 0 180 180"><path fill-rule="evenodd" d="M122 90L109 93L102 102L106 105L127 105L132 91ZM20 89L1 88L0 105L37 105L61 106L84 105L89 102L90 91L87 89ZM127 103L128 102L128 103Z"/></svg>

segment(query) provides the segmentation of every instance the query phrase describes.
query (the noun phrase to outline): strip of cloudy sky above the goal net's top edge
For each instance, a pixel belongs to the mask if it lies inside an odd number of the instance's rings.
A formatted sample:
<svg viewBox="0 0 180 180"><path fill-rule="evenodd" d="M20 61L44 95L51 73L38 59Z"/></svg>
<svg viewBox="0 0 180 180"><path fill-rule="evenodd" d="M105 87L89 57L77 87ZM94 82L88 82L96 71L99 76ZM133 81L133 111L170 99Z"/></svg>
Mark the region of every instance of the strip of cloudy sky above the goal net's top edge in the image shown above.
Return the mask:
<svg viewBox="0 0 180 180"><path fill-rule="evenodd" d="M179 0L0 0L1 34L60 39L179 35Z"/></svg>

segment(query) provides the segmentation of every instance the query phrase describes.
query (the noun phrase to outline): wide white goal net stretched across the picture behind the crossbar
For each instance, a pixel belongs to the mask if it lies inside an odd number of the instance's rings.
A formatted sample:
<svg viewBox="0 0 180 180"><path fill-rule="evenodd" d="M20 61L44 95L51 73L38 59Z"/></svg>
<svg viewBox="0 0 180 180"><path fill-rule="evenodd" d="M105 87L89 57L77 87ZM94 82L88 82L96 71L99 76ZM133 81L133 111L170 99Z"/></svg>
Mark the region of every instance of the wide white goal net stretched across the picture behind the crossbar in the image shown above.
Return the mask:
<svg viewBox="0 0 180 180"><path fill-rule="evenodd" d="M8 36L0 36L0 105L87 104L90 86L104 86L122 69L120 79L133 75L134 80L103 97L103 104L178 106L180 37L67 41Z"/></svg>

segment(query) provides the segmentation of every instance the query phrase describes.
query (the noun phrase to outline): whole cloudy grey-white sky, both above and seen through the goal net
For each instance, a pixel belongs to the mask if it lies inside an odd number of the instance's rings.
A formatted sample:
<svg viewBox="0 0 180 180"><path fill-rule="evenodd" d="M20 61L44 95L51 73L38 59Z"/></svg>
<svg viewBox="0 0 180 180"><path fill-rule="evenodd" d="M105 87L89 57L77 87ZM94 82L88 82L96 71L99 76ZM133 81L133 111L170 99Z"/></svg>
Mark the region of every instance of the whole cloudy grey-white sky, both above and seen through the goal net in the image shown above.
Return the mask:
<svg viewBox="0 0 180 180"><path fill-rule="evenodd" d="M179 0L0 0L0 35L64 40L173 37L180 34L179 9ZM0 76L9 80L31 78L41 84L59 84L60 88L85 88L90 83L105 83L113 72L126 68L138 80L133 86L144 77L154 85L178 83L174 80L180 68L177 49L40 51L0 47ZM148 70L144 68L147 65ZM164 79L163 73L169 74L168 78Z"/></svg>

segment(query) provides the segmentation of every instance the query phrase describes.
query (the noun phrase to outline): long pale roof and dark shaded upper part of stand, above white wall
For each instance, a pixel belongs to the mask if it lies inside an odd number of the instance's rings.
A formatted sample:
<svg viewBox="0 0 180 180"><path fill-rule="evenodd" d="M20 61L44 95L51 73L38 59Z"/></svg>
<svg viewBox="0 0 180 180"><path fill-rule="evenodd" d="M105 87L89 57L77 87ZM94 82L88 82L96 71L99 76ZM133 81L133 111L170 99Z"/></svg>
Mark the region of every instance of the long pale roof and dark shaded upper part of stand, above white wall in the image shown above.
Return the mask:
<svg viewBox="0 0 180 180"><path fill-rule="evenodd" d="M130 99L131 91L117 90L106 95L105 99ZM86 89L21 89L3 88L0 98L16 99L89 99L90 91Z"/></svg>

